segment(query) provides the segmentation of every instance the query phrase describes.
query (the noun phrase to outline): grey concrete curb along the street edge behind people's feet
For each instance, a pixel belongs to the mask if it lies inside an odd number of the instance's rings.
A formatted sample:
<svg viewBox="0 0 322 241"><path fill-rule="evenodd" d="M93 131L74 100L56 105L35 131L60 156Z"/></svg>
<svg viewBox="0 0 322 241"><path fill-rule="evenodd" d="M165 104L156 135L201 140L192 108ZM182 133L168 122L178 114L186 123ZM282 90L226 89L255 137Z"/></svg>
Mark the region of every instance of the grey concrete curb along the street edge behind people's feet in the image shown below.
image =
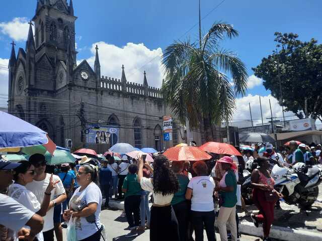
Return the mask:
<svg viewBox="0 0 322 241"><path fill-rule="evenodd" d="M124 210L124 201L110 200L109 206L112 208L117 208ZM217 222L215 222L215 225ZM252 222L241 221L239 222L239 231L244 234L249 234L252 236L263 237L263 227L255 227ZM285 241L321 241L321 234L317 232L310 232L306 230L296 230L281 226L272 226L270 237L285 240Z"/></svg>

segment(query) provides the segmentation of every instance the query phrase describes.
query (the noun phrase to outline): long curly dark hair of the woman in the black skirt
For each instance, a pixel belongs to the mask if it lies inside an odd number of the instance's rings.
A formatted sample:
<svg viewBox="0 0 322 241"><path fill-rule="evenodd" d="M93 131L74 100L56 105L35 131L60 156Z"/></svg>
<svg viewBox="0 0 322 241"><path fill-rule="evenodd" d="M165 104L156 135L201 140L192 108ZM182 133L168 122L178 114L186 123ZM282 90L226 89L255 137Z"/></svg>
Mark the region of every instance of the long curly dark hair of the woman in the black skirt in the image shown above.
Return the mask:
<svg viewBox="0 0 322 241"><path fill-rule="evenodd" d="M155 157L153 167L153 191L162 195L176 193L179 190L179 183L168 158L164 155Z"/></svg>

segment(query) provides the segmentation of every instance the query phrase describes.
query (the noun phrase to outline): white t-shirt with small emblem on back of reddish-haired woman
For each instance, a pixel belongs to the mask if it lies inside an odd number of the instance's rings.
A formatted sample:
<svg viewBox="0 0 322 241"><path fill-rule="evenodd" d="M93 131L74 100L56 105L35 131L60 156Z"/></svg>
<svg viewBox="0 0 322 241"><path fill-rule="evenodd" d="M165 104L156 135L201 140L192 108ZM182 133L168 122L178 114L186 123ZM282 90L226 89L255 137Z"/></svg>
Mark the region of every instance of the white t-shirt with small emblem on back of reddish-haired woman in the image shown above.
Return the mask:
<svg viewBox="0 0 322 241"><path fill-rule="evenodd" d="M212 196L215 182L212 177L193 177L188 184L188 188L192 189L191 210L201 212L214 210Z"/></svg>

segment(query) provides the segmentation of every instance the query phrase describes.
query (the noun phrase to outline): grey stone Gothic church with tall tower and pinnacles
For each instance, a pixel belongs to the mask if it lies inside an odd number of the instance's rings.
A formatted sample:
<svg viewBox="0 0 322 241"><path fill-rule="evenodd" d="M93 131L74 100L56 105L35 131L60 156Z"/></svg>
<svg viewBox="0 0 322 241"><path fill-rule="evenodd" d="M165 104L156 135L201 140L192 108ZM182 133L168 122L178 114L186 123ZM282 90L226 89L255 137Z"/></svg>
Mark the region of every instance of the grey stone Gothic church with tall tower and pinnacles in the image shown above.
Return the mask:
<svg viewBox="0 0 322 241"><path fill-rule="evenodd" d="M172 115L159 88L101 76L99 49L94 68L76 64L75 21L72 0L38 0L29 23L26 48L15 44L9 61L9 113L46 131L59 146L89 147L103 152L125 142L136 148L160 151L184 142L185 130L173 121L165 139L163 116ZM33 33L34 25L35 33ZM201 142L200 133L193 139Z"/></svg>

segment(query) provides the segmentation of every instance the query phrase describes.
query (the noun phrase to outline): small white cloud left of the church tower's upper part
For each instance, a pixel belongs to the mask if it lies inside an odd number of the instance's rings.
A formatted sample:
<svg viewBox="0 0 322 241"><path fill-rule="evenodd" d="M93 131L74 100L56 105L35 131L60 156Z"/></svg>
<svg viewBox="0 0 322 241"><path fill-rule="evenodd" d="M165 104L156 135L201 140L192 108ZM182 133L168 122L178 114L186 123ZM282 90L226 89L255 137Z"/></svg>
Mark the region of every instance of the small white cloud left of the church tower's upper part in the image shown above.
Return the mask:
<svg viewBox="0 0 322 241"><path fill-rule="evenodd" d="M1 22L0 31L15 41L24 41L28 37L28 19L14 18L10 22ZM33 28L34 31L34 28ZM35 32L35 31L34 31Z"/></svg>

